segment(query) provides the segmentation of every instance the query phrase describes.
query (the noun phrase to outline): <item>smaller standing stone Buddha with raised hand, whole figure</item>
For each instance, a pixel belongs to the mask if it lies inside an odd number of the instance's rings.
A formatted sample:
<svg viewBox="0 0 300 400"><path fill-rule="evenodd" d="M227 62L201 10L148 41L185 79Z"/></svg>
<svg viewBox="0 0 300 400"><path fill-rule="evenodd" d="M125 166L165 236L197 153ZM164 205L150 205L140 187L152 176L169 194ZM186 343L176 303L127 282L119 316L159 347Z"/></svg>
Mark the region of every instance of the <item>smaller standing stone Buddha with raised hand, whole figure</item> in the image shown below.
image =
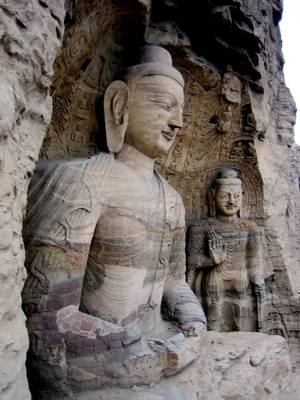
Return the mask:
<svg viewBox="0 0 300 400"><path fill-rule="evenodd" d="M201 299L208 329L261 329L265 285L259 231L242 220L242 185L234 169L223 168L210 189L210 215L189 228L188 282Z"/></svg>

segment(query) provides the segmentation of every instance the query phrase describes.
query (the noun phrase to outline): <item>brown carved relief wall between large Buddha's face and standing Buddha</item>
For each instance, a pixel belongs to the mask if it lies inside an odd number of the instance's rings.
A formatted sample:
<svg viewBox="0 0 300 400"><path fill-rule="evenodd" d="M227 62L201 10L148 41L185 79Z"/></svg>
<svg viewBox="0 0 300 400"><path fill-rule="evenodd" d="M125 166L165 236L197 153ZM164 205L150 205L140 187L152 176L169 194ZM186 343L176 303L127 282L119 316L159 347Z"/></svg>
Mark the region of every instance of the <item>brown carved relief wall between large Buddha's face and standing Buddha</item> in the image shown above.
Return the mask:
<svg viewBox="0 0 300 400"><path fill-rule="evenodd" d="M182 195L188 224L207 217L208 187L217 169L225 165L241 173L245 215L262 218L262 181L257 168L255 126L253 132L249 130L247 83L231 72L221 78L200 61L197 67L191 63L181 71L186 81L184 128L169 155L157 160L157 169Z"/></svg>

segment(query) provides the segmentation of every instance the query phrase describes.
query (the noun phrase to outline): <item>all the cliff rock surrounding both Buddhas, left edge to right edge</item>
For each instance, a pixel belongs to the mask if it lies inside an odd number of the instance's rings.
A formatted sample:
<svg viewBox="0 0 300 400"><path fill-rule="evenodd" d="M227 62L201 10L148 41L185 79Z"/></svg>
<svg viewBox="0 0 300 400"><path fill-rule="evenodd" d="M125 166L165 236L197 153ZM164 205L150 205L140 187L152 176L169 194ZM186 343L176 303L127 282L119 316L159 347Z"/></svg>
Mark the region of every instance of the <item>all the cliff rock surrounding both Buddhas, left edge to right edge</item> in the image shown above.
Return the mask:
<svg viewBox="0 0 300 400"><path fill-rule="evenodd" d="M299 169L282 2L207 0L198 8L196 0L1 3L1 398L29 398L21 231L34 162L39 152L53 159L105 148L99 98L145 43L168 48L186 80L185 127L157 169L183 196L188 224L207 216L216 169L241 171L245 213L265 233L263 330L299 337Z"/></svg>

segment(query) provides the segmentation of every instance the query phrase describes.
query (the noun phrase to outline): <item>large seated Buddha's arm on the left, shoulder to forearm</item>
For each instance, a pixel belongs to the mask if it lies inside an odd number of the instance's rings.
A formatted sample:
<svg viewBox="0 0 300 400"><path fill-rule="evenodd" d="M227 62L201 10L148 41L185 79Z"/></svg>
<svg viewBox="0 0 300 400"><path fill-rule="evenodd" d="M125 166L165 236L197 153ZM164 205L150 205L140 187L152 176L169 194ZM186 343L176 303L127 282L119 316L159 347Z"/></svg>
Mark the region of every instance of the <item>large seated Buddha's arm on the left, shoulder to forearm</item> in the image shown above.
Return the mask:
<svg viewBox="0 0 300 400"><path fill-rule="evenodd" d="M23 304L29 333L42 337L46 346L65 346L71 352L129 342L124 328L79 311L101 213L91 178L84 165L79 167L59 166L34 182L25 230L28 278Z"/></svg>

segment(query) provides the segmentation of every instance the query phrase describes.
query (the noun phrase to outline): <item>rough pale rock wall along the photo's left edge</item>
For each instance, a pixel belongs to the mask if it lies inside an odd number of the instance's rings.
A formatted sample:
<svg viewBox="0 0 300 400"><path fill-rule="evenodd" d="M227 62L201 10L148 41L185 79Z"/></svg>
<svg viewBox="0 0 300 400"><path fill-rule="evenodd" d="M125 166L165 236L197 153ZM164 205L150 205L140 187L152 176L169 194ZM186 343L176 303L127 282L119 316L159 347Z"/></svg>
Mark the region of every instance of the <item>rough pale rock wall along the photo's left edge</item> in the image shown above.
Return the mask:
<svg viewBox="0 0 300 400"><path fill-rule="evenodd" d="M0 3L0 398L26 400L28 347L21 290L27 185L49 124L64 1Z"/></svg>

